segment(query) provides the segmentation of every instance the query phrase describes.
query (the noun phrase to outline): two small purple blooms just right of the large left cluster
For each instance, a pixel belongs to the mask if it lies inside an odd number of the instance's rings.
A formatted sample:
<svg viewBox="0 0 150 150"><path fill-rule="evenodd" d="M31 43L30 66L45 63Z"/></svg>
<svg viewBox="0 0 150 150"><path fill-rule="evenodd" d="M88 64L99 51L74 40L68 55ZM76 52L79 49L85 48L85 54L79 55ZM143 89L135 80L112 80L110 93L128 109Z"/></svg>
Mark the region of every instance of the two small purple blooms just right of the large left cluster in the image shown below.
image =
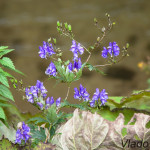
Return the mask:
<svg viewBox="0 0 150 150"><path fill-rule="evenodd" d="M50 99L50 97L48 97L47 99L46 99L46 106L45 106L45 109L47 109L47 108L49 108L51 105L53 105L54 104L54 98L53 98L53 96L51 97L51 99ZM56 107L59 107L60 106L60 103L61 103L61 98L59 97L57 100L56 100Z"/></svg>

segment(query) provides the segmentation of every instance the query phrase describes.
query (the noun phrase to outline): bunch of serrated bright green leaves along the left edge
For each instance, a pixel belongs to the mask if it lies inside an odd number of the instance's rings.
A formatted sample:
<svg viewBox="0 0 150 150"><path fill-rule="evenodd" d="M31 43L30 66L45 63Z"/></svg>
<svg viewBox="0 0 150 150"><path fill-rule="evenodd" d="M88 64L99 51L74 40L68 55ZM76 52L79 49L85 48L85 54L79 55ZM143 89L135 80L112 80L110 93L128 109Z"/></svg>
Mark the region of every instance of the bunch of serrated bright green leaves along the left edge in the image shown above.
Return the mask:
<svg viewBox="0 0 150 150"><path fill-rule="evenodd" d="M0 46L0 120L5 122L6 116L4 107L10 107L9 100L14 101L12 93L9 90L8 78L14 78L8 72L5 72L3 68L8 68L17 73L23 74L19 70L15 69L12 60L8 57L3 57L5 54L12 52L13 49L8 49L8 46Z"/></svg>

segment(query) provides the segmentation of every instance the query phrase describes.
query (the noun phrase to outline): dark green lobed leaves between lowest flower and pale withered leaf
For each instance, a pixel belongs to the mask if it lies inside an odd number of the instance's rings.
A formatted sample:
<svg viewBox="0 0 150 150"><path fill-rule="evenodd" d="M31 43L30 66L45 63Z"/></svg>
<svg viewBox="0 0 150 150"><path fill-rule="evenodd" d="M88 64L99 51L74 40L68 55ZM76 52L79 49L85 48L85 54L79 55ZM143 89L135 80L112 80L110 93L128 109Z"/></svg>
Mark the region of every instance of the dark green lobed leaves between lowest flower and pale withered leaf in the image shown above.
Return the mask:
<svg viewBox="0 0 150 150"><path fill-rule="evenodd" d="M58 125L66 121L66 118L70 117L71 114L63 114L56 112L56 106L52 105L50 108L45 110L44 114L40 117L32 117L27 121L31 128L32 146L34 147L40 141L45 142L48 137L51 141L55 135L55 130ZM44 124L44 127L43 127Z"/></svg>

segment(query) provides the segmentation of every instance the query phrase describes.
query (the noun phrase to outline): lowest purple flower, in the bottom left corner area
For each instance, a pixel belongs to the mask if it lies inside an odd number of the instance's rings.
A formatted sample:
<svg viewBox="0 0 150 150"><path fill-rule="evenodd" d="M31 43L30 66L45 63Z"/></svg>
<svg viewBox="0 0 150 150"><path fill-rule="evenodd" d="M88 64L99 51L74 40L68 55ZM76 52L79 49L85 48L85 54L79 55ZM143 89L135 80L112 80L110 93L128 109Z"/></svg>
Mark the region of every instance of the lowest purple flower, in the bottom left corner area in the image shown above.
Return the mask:
<svg viewBox="0 0 150 150"><path fill-rule="evenodd" d="M22 140L26 141L29 140L31 137L30 135L30 128L24 123L18 123L18 130L16 131L16 141L15 143L21 144Z"/></svg>

